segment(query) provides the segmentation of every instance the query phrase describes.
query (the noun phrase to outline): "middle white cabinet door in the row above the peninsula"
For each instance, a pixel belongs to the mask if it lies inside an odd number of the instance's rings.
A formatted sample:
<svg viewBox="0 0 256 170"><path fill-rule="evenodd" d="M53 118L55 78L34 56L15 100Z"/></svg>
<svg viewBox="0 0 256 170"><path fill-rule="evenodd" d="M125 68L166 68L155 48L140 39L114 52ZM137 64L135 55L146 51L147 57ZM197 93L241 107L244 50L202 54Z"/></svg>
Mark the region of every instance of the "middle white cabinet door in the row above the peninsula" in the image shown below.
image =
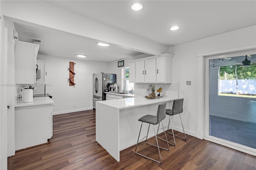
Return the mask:
<svg viewBox="0 0 256 170"><path fill-rule="evenodd" d="M156 59L145 60L145 82L156 83Z"/></svg>

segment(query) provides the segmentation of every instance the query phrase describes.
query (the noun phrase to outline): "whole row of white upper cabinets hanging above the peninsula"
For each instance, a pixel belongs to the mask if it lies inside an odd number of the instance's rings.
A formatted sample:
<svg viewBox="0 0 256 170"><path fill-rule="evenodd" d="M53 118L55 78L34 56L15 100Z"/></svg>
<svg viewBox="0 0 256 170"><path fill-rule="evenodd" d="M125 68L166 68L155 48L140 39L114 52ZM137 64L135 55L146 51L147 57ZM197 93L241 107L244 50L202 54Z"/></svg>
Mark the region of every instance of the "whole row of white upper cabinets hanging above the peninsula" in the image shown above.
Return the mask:
<svg viewBox="0 0 256 170"><path fill-rule="evenodd" d="M146 57L130 61L129 69L135 72L134 83L172 83L172 54ZM135 63L135 70L134 70ZM134 75L134 74L133 74ZM132 76L133 76L132 75Z"/></svg>

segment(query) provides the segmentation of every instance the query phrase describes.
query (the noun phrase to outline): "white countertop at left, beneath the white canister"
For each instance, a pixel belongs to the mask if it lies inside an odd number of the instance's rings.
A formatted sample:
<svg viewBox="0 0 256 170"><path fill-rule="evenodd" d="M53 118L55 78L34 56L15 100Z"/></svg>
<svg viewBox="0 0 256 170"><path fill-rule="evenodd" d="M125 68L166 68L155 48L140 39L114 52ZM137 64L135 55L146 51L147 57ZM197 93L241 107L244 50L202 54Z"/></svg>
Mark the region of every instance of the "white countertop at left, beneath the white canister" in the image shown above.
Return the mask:
<svg viewBox="0 0 256 170"><path fill-rule="evenodd" d="M33 102L30 102L30 103L15 101L15 107L47 105L47 104L53 104L53 103L54 103L54 101L48 96L47 97L33 97Z"/></svg>

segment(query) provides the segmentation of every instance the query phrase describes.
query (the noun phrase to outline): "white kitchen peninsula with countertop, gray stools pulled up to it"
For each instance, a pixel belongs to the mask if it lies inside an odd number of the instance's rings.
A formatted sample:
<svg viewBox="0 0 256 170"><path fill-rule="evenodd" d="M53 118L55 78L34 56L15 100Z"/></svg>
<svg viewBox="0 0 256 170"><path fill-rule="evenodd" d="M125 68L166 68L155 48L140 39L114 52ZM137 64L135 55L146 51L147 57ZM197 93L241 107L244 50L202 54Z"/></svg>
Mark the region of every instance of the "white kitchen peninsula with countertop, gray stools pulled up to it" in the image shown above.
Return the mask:
<svg viewBox="0 0 256 170"><path fill-rule="evenodd" d="M96 141L119 162L120 151L137 143L141 125L138 119L144 115L156 115L162 102L167 102L166 108L170 108L175 99L178 99L178 93L157 99L129 97L96 102ZM166 117L164 126L168 125L168 120ZM145 136L147 130L148 126L143 126L141 136ZM150 128L148 138L152 136L154 131Z"/></svg>

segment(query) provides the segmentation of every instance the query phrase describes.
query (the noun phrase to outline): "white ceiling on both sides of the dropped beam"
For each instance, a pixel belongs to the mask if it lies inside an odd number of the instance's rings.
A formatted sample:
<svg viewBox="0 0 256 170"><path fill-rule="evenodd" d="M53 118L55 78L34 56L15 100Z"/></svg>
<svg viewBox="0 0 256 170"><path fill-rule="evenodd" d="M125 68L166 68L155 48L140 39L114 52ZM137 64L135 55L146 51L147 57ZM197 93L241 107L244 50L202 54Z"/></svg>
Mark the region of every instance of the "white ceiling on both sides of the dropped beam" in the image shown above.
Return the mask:
<svg viewBox="0 0 256 170"><path fill-rule="evenodd" d="M140 11L130 8L132 0L44 2L168 47L256 25L254 0L143 0ZM170 31L174 25L180 28ZM118 44L100 47L95 45L97 40L56 30L18 23L15 28L20 41L42 40L39 54L72 57L85 53L84 59L103 62L142 54Z"/></svg>

